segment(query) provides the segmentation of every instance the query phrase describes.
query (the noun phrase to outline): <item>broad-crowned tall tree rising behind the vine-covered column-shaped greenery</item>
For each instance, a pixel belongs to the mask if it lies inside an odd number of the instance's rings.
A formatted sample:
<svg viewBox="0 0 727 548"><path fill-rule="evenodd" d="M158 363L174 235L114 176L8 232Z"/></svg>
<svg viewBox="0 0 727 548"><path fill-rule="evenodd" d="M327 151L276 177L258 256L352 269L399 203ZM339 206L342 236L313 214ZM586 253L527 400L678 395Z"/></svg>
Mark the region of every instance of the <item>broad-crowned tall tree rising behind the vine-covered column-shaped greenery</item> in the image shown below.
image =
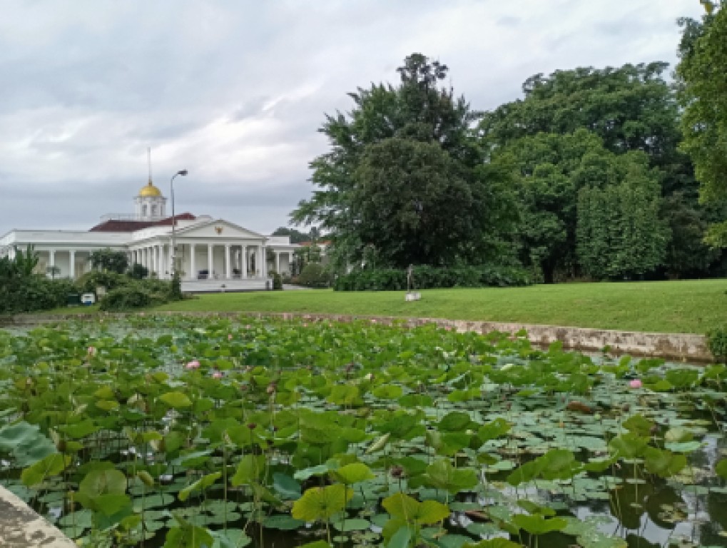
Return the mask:
<svg viewBox="0 0 727 548"><path fill-rule="evenodd" d="M662 218L672 215L674 241L664 259L670 275L705 275L711 259L718 259L707 253L704 233L695 230L704 227L713 213L698 204L694 166L679 149L680 113L675 89L664 79L666 70L666 63L648 63L537 74L523 84L523 99L484 114L479 129L489 158L514 150L521 174L529 181L521 188L521 194L528 190L521 202L521 257L526 264L540 265L546 280L557 272L577 273L577 191L607 176L604 169L611 161L606 152L645 153L649 166L659 169L660 190L668 203ZM600 137L597 148L603 150L586 146L592 143L588 137L583 142L567 137L579 131ZM571 187L543 177L553 172L552 166L561 174L572 172L573 162L583 154L590 158L579 166L581 180L573 180ZM698 222L688 230L676 225L678 219L694 215ZM710 262L705 263L707 257ZM696 265L702 270L695 270Z"/></svg>

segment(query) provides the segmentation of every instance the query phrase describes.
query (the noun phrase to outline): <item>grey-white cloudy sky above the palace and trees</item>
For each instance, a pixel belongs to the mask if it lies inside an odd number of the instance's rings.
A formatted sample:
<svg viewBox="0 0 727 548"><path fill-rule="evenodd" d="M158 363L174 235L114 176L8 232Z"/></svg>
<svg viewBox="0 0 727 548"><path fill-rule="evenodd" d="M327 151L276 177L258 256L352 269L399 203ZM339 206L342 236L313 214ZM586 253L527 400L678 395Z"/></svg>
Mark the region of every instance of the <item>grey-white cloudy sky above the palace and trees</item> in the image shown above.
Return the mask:
<svg viewBox="0 0 727 548"><path fill-rule="evenodd" d="M534 73L664 60L698 0L3 0L0 235L177 212L267 233L310 196L324 113L411 52L489 110Z"/></svg>

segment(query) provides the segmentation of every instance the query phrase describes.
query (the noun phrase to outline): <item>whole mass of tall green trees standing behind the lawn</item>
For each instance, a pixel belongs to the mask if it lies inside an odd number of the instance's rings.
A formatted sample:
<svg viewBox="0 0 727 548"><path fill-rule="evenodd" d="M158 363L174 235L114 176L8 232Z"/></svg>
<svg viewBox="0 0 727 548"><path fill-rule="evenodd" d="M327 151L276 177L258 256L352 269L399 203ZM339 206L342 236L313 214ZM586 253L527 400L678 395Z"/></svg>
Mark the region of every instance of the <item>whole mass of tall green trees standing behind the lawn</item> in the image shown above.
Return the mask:
<svg viewBox="0 0 727 548"><path fill-rule="evenodd" d="M727 222L707 229L727 213L727 10L683 25L677 84L661 62L557 70L485 113L441 85L446 65L407 57L398 85L359 88L326 116L330 148L292 221L324 230L340 265L518 265L547 282L723 273L705 233L727 246Z"/></svg>

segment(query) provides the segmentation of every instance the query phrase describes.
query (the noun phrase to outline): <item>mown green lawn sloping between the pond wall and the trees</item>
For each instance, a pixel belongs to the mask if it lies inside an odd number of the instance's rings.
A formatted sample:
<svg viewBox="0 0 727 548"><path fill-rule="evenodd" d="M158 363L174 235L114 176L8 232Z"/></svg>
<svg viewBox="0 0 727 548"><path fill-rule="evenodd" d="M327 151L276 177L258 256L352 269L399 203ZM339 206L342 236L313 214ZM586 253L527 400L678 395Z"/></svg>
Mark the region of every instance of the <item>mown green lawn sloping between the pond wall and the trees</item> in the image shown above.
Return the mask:
<svg viewBox="0 0 727 548"><path fill-rule="evenodd" d="M703 334L727 323L726 290L727 280L564 283L428 289L418 302L405 302L403 291L261 291L199 295L152 310L418 316ZM76 307L53 312L95 310L97 307Z"/></svg>

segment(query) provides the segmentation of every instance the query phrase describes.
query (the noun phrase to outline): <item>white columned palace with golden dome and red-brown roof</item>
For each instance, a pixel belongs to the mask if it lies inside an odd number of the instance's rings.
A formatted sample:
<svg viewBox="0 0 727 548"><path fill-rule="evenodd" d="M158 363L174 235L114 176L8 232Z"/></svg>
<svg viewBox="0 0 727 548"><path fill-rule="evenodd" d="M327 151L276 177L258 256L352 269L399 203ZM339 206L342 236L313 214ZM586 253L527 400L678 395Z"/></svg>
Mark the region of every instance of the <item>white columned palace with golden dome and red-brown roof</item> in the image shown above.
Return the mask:
<svg viewBox="0 0 727 548"><path fill-rule="evenodd" d="M261 281L270 270L290 273L300 246L288 236L253 232L225 219L176 215L174 247L182 281ZM38 270L56 278L76 279L91 270L92 251L125 251L158 278L172 277L172 217L166 198L149 180L134 197L134 214L108 214L91 230L11 230L0 238L0 257L31 245Z"/></svg>

